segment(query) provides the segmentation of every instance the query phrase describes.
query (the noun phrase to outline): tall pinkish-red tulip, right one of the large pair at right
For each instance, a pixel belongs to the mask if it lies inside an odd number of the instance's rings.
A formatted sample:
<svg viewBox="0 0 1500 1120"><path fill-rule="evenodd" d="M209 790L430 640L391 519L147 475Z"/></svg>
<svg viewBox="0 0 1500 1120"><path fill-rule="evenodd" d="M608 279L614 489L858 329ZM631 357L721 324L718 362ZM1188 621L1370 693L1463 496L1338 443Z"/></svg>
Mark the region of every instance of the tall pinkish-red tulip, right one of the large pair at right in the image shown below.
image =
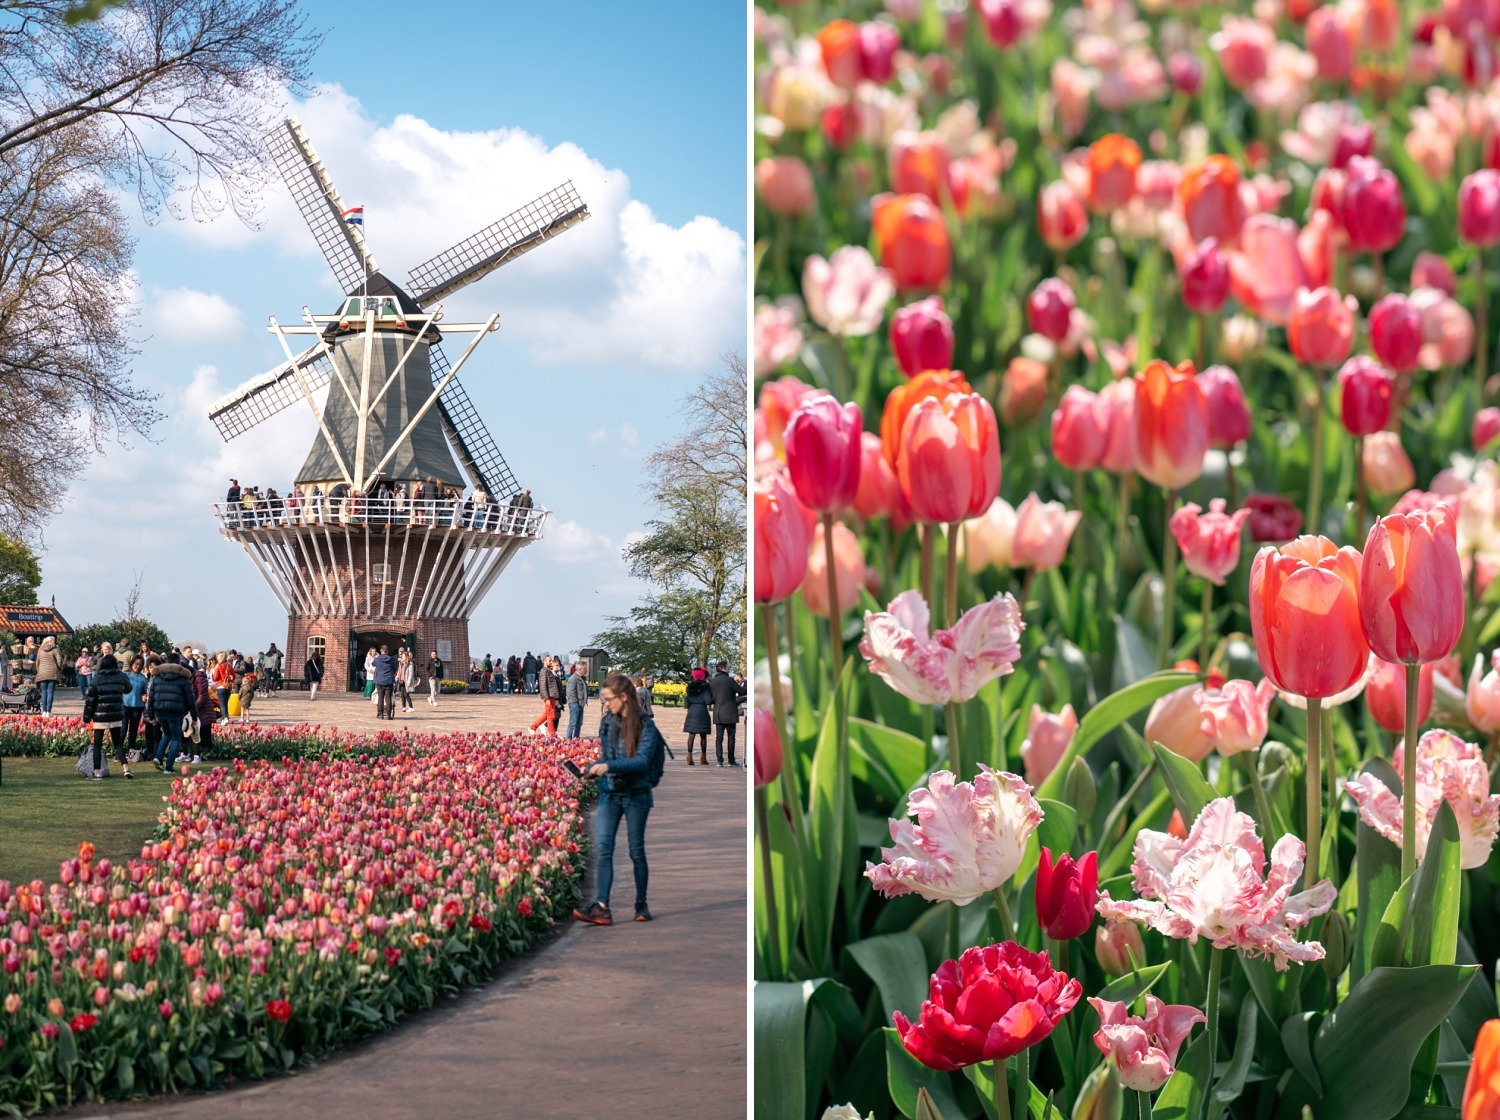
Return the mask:
<svg viewBox="0 0 1500 1120"><path fill-rule="evenodd" d="M1446 505L1380 517L1365 541L1359 616L1383 661L1425 664L1458 645L1464 574L1458 526Z"/></svg>

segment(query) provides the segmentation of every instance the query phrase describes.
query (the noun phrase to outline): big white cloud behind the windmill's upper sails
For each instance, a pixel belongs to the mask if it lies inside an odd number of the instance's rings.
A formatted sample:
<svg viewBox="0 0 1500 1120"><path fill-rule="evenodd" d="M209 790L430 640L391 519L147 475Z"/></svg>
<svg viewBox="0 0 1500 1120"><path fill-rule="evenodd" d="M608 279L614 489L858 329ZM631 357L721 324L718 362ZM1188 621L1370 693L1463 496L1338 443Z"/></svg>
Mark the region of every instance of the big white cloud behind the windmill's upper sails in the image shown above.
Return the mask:
<svg viewBox="0 0 1500 1120"><path fill-rule="evenodd" d="M525 342L542 364L616 370L621 361L663 372L699 372L744 348L746 244L712 217L672 226L630 196L624 171L604 168L576 144L549 147L519 129L448 132L414 117L376 126L336 85L290 111L298 117L345 205L364 207L364 237L396 283L406 271L502 214L572 180L591 220L465 288L450 316L483 319ZM232 217L176 222L172 232L214 247L254 237L315 261L316 247L291 196L266 195L264 228ZM320 291L333 276L314 265Z"/></svg>

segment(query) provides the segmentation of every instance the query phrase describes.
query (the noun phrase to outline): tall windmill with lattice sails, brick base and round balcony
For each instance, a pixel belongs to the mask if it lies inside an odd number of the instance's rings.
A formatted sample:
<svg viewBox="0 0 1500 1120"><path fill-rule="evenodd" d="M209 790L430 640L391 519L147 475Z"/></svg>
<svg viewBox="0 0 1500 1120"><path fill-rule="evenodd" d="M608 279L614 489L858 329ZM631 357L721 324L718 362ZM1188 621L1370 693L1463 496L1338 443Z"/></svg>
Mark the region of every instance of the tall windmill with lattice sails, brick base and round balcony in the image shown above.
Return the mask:
<svg viewBox="0 0 1500 1120"><path fill-rule="evenodd" d="M267 148L345 297L333 315L303 307L300 325L273 316L286 360L208 408L225 441L298 402L318 420L291 493L216 505L220 534L286 610L290 675L321 651L326 687L350 688L364 652L384 643L420 651L418 664L435 649L466 678L468 619L540 538L548 511L532 507L458 381L498 315L448 324L441 301L585 220L588 207L564 183L418 264L399 288L302 126L284 121ZM472 334L454 364L444 334ZM310 345L294 352L291 337ZM447 499L466 486L489 502Z"/></svg>

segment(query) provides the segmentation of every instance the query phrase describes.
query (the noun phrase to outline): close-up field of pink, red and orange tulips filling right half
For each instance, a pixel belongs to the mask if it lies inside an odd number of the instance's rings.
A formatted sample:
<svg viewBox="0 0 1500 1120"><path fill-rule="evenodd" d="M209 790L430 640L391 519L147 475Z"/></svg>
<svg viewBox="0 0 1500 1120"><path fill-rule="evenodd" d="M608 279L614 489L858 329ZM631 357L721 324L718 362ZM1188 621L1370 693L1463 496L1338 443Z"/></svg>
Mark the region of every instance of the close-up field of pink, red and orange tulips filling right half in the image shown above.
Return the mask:
<svg viewBox="0 0 1500 1120"><path fill-rule="evenodd" d="M754 39L756 1116L1500 1120L1500 4Z"/></svg>

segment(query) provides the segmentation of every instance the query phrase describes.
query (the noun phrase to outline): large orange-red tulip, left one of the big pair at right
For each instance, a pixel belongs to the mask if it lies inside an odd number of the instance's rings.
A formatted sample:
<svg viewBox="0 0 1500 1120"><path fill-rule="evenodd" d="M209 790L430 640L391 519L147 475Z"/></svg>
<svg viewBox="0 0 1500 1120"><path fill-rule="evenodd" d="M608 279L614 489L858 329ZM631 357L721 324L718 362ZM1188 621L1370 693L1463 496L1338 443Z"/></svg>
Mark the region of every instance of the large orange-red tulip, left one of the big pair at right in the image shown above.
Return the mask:
<svg viewBox="0 0 1500 1120"><path fill-rule="evenodd" d="M1298 537L1256 553L1250 630L1266 676L1284 693L1326 697L1365 672L1359 553L1326 537Z"/></svg>

